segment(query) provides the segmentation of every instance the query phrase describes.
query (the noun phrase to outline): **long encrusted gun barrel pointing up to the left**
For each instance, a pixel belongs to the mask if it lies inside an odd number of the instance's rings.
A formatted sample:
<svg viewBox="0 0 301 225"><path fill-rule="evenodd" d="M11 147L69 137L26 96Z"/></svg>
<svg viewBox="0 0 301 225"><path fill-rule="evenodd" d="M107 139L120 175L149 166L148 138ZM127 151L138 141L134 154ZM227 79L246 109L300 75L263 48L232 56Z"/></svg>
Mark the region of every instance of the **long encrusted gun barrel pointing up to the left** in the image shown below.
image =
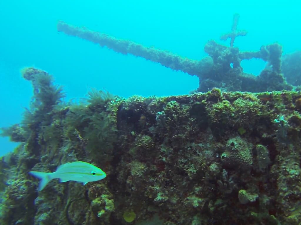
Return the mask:
<svg viewBox="0 0 301 225"><path fill-rule="evenodd" d="M106 46L115 52L122 54L131 54L159 62L161 65L171 68L172 70L181 70L190 75L199 75L207 73L212 67L211 58L204 58L200 61L184 58L175 53L155 49L152 47L145 47L142 44L137 44L133 41L115 38L113 36L93 32L85 27L72 26L66 22L58 21L57 31L64 32L70 36L76 36L82 39L86 39L93 43L97 43L100 46Z"/></svg>

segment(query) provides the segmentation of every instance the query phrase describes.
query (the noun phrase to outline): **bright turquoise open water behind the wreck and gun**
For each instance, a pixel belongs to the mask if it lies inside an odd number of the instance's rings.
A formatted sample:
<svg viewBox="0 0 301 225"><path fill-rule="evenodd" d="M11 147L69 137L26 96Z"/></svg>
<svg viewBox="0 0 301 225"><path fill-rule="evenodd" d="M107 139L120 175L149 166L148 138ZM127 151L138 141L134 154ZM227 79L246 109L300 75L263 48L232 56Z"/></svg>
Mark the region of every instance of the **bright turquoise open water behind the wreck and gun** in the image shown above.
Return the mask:
<svg viewBox="0 0 301 225"><path fill-rule="evenodd" d="M91 87L123 97L181 95L198 87L197 77L58 33L58 20L200 59L206 55L206 41L219 41L230 31L233 14L239 13L238 29L248 31L235 40L240 50L259 50L276 41L284 53L301 49L300 3L162 2L0 1L0 127L20 122L29 104L33 90L20 75L27 66L53 74L64 85L67 100L85 97ZM259 74L265 63L250 60L242 66L245 72ZM1 138L0 155L15 146Z"/></svg>

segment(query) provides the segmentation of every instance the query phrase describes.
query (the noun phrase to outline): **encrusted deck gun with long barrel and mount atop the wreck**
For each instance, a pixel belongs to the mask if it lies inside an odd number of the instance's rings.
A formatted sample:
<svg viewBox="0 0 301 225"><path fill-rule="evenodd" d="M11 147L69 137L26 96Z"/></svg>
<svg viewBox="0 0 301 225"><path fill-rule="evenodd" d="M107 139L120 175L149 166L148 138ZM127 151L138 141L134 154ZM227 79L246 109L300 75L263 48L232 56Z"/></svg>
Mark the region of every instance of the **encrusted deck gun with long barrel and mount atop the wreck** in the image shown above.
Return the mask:
<svg viewBox="0 0 301 225"><path fill-rule="evenodd" d="M163 51L154 47L146 47L130 40L115 38L113 36L91 31L85 27L76 27L63 21L58 21L57 31L67 35L76 36L100 46L122 54L131 54L158 62L172 70L181 70L190 75L196 75L199 79L197 91L206 92L218 87L223 91L273 91L292 90L292 85L287 84L281 75L282 46L278 43L262 45L259 51L240 52L238 47L233 47L237 36L245 36L246 31L237 31L239 14L234 14L231 32L222 35L222 40L231 38L230 47L208 41L204 50L209 55L200 60L192 60L179 56L169 51ZM262 70L259 76L243 72L240 63L242 60L260 58L267 61L272 67Z"/></svg>

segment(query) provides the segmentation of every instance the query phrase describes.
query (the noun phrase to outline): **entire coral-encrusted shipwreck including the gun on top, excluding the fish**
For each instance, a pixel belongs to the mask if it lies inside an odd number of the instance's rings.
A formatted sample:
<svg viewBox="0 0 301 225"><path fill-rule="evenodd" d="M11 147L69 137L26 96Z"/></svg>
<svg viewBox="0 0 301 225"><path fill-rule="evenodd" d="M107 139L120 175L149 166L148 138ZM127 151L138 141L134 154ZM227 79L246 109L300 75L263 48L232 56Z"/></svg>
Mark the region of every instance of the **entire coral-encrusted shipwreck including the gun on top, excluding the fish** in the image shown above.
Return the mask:
<svg viewBox="0 0 301 225"><path fill-rule="evenodd" d="M51 74L24 68L33 97L22 121L2 128L20 145L0 163L0 224L300 224L300 84L281 73L281 45L235 47L247 34L238 17L222 36L230 47L209 41L200 61L58 22L68 35L196 75L199 92L125 99L91 89L75 104ZM271 67L245 74L240 61L254 57ZM39 191L28 173L75 161L106 177L53 179Z"/></svg>

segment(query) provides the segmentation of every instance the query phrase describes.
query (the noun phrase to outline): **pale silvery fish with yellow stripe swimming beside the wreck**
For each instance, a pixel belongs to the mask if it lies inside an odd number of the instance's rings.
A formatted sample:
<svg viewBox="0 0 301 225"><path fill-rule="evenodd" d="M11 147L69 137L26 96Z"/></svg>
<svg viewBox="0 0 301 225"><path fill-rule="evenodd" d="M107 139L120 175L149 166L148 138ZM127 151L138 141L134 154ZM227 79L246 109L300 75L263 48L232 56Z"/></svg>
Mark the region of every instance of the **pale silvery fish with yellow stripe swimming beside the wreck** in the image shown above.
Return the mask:
<svg viewBox="0 0 301 225"><path fill-rule="evenodd" d="M76 181L85 185L88 182L99 181L107 176L100 168L82 161L63 164L57 167L57 170L53 173L38 171L28 173L41 180L39 190L43 190L49 181L56 178L60 179L60 182Z"/></svg>

